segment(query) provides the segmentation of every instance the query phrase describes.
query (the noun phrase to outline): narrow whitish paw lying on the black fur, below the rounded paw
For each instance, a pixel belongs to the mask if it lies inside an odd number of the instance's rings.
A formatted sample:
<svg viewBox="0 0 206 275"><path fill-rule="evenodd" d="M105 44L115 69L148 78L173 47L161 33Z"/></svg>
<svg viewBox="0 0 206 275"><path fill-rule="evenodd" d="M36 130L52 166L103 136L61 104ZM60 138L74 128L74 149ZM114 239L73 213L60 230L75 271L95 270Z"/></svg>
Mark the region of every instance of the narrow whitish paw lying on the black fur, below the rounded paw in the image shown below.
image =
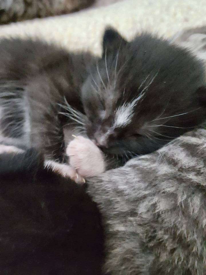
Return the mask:
<svg viewBox="0 0 206 275"><path fill-rule="evenodd" d="M74 180L76 183L85 183L85 179L80 176L77 171L68 164L58 163L52 160L46 160L44 162L44 167L51 169L53 172L62 175L63 177L68 177Z"/></svg>

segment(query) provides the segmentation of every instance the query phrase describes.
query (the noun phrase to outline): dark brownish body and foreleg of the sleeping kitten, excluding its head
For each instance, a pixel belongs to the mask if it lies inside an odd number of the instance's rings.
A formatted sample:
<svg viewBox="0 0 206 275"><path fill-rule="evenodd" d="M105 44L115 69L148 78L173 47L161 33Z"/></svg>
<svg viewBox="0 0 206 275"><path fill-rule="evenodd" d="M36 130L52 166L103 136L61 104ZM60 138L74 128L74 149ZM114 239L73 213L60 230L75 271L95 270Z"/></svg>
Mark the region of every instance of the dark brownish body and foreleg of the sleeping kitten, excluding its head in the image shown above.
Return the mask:
<svg viewBox="0 0 206 275"><path fill-rule="evenodd" d="M65 98L83 111L80 87L92 57L32 40L2 40L0 48L2 135L20 138L47 158L62 161L66 117L59 114L64 109L58 104L64 105Z"/></svg>

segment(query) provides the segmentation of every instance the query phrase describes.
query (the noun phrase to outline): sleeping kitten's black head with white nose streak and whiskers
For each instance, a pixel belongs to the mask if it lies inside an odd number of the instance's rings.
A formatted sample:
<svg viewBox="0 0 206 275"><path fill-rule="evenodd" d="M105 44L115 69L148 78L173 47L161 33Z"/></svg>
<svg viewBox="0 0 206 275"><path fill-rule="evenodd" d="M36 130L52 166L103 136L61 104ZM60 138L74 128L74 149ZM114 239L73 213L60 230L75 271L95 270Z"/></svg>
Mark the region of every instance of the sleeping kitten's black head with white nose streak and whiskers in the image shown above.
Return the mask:
<svg viewBox="0 0 206 275"><path fill-rule="evenodd" d="M87 134L111 154L152 152L203 121L203 85L203 66L186 50L149 34L127 42L107 29L82 87Z"/></svg>

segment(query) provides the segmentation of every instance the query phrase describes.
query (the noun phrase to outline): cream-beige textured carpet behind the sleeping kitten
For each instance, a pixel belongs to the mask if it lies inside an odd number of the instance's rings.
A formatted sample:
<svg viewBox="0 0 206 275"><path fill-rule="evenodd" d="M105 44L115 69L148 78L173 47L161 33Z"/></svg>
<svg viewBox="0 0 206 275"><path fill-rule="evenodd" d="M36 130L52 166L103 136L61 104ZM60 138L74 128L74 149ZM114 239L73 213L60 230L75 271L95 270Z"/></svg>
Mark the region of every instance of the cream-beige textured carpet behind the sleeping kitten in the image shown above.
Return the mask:
<svg viewBox="0 0 206 275"><path fill-rule="evenodd" d="M38 36L70 50L101 52L107 25L131 39L141 30L170 37L182 28L206 24L205 0L124 0L69 15L0 26L1 36Z"/></svg>

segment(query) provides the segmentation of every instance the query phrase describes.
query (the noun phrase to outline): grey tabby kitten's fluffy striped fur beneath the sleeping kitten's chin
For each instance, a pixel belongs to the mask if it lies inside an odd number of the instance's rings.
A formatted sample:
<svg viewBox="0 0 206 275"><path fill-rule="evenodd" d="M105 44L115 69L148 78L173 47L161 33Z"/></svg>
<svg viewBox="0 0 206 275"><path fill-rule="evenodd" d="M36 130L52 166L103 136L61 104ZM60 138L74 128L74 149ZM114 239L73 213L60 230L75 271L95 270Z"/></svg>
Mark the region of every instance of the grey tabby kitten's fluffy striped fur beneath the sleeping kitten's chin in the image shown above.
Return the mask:
<svg viewBox="0 0 206 275"><path fill-rule="evenodd" d="M206 130L89 180L112 275L206 274Z"/></svg>

